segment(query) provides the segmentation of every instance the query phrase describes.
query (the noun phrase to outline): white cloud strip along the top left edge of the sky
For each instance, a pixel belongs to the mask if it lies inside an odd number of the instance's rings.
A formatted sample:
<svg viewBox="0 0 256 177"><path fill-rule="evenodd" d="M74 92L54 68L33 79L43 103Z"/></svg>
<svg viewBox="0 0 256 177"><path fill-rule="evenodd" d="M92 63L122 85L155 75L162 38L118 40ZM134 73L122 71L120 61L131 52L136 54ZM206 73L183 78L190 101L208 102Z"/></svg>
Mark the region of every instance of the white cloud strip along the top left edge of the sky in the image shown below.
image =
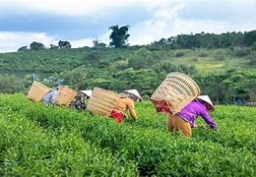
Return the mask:
<svg viewBox="0 0 256 177"><path fill-rule="evenodd" d="M118 10L131 5L152 9L169 0L0 0L0 10L19 7L23 11L47 12L67 16L101 16L109 10ZM172 0L171 0L172 1ZM14 6L15 5L15 6Z"/></svg>

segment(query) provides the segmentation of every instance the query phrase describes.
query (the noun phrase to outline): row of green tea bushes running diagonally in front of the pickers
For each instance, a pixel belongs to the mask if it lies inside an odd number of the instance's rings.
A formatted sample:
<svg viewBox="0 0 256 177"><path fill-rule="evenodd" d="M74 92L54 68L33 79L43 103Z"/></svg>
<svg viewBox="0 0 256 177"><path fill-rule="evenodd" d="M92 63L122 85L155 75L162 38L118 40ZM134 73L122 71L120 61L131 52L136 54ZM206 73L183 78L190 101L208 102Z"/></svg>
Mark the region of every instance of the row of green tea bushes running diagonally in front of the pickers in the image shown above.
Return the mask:
<svg viewBox="0 0 256 177"><path fill-rule="evenodd" d="M5 101L0 101L0 105L19 112L47 130L79 132L88 144L110 149L116 158L123 161L136 161L141 175L253 176L256 172L255 153L251 149L229 148L212 141L211 138L219 137L219 132L200 130L195 139L186 140L158 131L156 127L117 124L90 113L46 108L29 102L21 95L4 97Z"/></svg>

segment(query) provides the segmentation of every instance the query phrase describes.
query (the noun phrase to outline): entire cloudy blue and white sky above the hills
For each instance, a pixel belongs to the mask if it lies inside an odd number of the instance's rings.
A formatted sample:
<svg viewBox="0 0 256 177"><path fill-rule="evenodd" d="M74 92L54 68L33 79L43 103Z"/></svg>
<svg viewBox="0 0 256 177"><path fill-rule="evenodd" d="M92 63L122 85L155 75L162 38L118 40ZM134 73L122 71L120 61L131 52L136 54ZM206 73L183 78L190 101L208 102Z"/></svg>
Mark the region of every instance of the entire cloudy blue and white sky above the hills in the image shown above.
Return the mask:
<svg viewBox="0 0 256 177"><path fill-rule="evenodd" d="M0 52L32 41L46 47L109 43L113 25L129 25L129 43L147 44L179 33L256 29L256 0L0 0Z"/></svg>

